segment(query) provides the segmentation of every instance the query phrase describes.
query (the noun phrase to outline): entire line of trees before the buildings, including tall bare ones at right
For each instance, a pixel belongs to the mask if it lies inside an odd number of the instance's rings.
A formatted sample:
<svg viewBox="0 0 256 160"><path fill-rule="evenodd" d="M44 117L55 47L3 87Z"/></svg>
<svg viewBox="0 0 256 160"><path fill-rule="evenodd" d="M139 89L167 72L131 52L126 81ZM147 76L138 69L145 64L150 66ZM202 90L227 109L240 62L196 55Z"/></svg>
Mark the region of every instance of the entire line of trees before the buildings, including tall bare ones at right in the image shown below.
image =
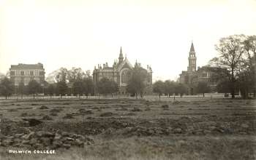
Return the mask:
<svg viewBox="0 0 256 160"><path fill-rule="evenodd" d="M249 93L256 97L256 36L233 35L219 40L216 44L219 52L217 57L209 61L209 65L226 68L225 71L217 71L211 79L217 79L217 92L230 93L232 98L237 92L241 92L243 98L248 98ZM126 91L132 96L143 97L147 86L147 71L138 63L129 71ZM21 97L26 94L37 95L95 95L95 89L99 95L116 95L118 84L113 79L102 78L94 84L90 71L84 72L81 68L60 68L52 74L53 84L45 81L43 87L32 80L28 86L23 83L18 88L7 77L0 81L0 94L7 96L18 93ZM95 86L94 86L95 85ZM195 92L211 92L206 82L198 82L194 86ZM15 90L16 89L16 90ZM153 91L161 95L184 95L188 93L188 86L175 81L156 81Z"/></svg>

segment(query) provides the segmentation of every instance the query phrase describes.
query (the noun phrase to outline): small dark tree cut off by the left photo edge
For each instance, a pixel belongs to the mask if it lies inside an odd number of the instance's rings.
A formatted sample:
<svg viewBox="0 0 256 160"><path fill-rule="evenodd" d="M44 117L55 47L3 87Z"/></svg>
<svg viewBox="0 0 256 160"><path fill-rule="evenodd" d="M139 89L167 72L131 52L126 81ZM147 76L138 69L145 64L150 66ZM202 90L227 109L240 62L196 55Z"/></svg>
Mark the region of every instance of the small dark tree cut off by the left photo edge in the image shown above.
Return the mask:
<svg viewBox="0 0 256 160"><path fill-rule="evenodd" d="M14 92L14 86L12 84L12 81L8 79L7 77L4 77L4 79L1 80L0 83L0 94L5 96L5 99L7 99L7 96L12 95Z"/></svg>

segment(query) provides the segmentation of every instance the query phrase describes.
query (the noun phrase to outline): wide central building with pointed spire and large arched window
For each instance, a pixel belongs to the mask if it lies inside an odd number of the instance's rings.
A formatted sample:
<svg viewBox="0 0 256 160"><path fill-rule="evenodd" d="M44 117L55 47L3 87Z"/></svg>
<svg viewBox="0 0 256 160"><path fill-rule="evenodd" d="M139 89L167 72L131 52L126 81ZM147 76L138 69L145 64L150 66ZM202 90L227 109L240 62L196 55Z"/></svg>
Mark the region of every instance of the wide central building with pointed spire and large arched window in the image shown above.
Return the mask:
<svg viewBox="0 0 256 160"><path fill-rule="evenodd" d="M135 65L140 65L140 63L135 63ZM98 65L94 67L93 72L93 79L94 84L96 86L95 92L97 93L97 83L103 77L106 77L110 80L116 81L118 84L118 94L120 95L127 95L127 82L129 79L129 71L132 70L134 67L127 57L124 57L122 49L120 49L118 60L115 60L113 65L110 67L108 63L102 65ZM146 89L144 94L151 95L152 94L152 69L149 65L145 69L147 73L146 78Z"/></svg>

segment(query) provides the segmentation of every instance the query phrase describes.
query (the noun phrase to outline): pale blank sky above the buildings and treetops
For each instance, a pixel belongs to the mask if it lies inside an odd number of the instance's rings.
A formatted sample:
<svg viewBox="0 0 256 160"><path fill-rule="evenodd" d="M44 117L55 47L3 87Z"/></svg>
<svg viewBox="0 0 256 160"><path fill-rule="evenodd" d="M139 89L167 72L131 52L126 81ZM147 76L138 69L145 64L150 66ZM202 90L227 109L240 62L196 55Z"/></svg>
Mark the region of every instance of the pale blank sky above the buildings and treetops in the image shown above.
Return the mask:
<svg viewBox="0 0 256 160"><path fill-rule="evenodd" d="M255 0L0 0L0 72L10 65L58 68L118 58L151 65L153 79L187 70L189 47L197 66L217 55L214 44L233 34L256 34Z"/></svg>

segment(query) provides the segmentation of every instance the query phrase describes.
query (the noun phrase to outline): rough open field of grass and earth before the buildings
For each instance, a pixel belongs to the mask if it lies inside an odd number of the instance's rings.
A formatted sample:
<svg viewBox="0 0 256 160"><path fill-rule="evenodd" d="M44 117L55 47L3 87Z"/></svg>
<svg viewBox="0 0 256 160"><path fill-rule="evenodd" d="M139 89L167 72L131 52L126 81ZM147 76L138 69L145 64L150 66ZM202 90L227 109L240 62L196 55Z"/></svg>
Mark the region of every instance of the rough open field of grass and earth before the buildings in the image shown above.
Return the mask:
<svg viewBox="0 0 256 160"><path fill-rule="evenodd" d="M256 159L255 100L1 100L0 116L1 159ZM15 136L40 131L83 135L87 141L83 147L65 141L55 155L7 153L34 146ZM56 148L52 141L45 146Z"/></svg>

